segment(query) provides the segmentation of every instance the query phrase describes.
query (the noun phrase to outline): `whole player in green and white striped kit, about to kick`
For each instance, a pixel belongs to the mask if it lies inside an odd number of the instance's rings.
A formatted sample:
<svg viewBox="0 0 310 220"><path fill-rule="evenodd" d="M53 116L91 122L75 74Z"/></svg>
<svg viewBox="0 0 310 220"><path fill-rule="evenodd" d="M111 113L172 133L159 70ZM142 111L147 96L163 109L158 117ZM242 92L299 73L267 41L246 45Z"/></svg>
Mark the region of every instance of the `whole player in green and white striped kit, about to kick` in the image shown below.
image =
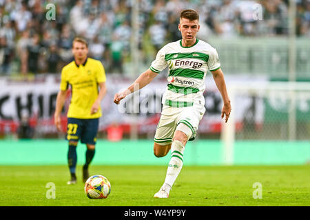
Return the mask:
<svg viewBox="0 0 310 220"><path fill-rule="evenodd" d="M168 43L158 51L151 67L143 72L127 90L115 94L119 102L134 89L149 84L157 74L169 66L168 85L163 95L163 110L154 137L154 155L163 157L171 149L171 159L165 182L154 197L167 198L183 166L183 153L188 140L194 140L198 124L205 113L205 76L211 71L223 98L221 117L227 122L231 111L225 79L220 69L218 53L208 43L196 39L200 28L199 14L195 10L180 13L178 30L182 40Z"/></svg>

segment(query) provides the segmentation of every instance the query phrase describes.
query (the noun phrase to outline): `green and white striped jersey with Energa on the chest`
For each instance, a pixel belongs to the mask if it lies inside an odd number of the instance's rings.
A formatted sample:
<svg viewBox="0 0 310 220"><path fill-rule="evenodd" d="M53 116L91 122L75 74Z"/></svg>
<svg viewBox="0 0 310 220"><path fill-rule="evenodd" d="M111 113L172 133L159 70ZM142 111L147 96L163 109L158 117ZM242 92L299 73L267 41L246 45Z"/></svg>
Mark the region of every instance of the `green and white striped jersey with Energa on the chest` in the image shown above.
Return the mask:
<svg viewBox="0 0 310 220"><path fill-rule="evenodd" d="M159 74L167 66L168 85L163 104L172 107L205 105L205 76L208 70L220 68L216 49L198 39L191 47L183 47L181 40L168 43L158 51L150 69Z"/></svg>

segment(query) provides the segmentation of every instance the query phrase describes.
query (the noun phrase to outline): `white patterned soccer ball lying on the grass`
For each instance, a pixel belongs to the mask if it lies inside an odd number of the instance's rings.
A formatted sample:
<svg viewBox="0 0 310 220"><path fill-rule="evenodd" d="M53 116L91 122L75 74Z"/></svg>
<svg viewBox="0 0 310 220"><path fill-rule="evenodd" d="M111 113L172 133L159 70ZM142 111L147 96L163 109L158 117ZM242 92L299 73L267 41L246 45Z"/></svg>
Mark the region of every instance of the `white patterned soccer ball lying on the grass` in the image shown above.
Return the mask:
<svg viewBox="0 0 310 220"><path fill-rule="evenodd" d="M84 190L90 199L105 199L111 192L111 184L103 175L94 175L85 181Z"/></svg>

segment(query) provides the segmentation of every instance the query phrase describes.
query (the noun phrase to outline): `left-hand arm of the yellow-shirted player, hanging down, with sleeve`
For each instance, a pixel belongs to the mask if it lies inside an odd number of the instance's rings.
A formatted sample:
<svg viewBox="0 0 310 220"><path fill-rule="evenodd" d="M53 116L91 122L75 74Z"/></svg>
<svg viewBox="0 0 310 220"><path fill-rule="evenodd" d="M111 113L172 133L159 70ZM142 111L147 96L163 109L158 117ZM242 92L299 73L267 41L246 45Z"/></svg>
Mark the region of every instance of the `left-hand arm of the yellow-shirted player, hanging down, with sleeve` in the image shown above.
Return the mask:
<svg viewBox="0 0 310 220"><path fill-rule="evenodd" d="M56 108L54 113L54 123L58 131L61 131L61 109L63 109L63 104L65 104L65 98L67 96L68 82L65 79L65 71L61 71L61 85L60 91L57 94L56 98Z"/></svg>

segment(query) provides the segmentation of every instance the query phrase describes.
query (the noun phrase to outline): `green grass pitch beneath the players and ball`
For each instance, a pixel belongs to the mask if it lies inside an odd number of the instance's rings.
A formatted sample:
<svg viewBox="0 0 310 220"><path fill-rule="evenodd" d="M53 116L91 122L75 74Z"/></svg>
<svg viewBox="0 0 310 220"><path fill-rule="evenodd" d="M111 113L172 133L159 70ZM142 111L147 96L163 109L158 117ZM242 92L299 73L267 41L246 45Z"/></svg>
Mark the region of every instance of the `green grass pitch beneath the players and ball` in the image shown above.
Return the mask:
<svg viewBox="0 0 310 220"><path fill-rule="evenodd" d="M78 184L66 185L67 166L0 166L0 206L310 206L310 166L183 166L168 199L154 199L166 166L90 166L107 177L107 199L88 199ZM56 186L47 199L48 182ZM255 182L262 199L254 199Z"/></svg>

